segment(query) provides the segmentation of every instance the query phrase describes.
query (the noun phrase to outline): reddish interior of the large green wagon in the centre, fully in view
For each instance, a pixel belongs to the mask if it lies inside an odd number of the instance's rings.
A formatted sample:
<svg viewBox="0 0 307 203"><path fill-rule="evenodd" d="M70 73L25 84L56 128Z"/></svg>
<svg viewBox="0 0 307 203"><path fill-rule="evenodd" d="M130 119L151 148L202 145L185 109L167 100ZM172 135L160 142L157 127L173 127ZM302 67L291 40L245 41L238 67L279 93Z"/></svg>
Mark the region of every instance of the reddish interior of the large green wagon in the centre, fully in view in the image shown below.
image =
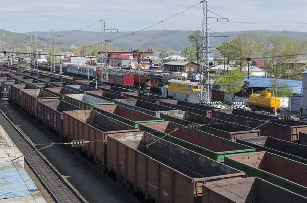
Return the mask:
<svg viewBox="0 0 307 203"><path fill-rule="evenodd" d="M202 132L199 130L189 130L187 128L184 128L184 126L182 125L174 124L172 122L145 123L142 125L152 128L152 132L154 131L161 131L164 133L171 132L170 136L185 140L194 145L201 146L203 148L209 149L214 152L226 152L226 151L250 149L250 147L248 146L240 145L230 140L216 137L213 136L212 134L208 134L206 132ZM179 129L174 131L177 128Z"/></svg>

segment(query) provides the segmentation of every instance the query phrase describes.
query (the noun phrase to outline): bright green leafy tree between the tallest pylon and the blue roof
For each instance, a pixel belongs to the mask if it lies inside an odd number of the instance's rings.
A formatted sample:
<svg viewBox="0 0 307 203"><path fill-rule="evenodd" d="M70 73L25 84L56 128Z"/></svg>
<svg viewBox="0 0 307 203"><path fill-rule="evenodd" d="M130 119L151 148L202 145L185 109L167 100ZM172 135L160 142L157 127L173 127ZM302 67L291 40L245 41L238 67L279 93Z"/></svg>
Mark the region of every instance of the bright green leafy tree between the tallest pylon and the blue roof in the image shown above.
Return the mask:
<svg viewBox="0 0 307 203"><path fill-rule="evenodd" d="M226 72L224 75L216 73L214 84L220 85L227 93L236 93L242 88L243 81L243 75L240 70L231 70Z"/></svg>

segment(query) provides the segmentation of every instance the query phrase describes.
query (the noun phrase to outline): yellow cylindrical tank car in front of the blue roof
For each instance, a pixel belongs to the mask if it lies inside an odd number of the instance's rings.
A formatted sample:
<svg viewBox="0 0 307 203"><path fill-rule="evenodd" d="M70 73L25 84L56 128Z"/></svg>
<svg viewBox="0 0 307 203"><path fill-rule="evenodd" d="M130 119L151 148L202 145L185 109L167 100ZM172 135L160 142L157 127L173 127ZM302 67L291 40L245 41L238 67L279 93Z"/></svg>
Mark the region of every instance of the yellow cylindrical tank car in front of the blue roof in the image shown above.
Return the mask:
<svg viewBox="0 0 307 203"><path fill-rule="evenodd" d="M248 102L250 105L260 108L270 108L270 110L275 110L275 94L273 91L260 91L260 94L252 94L248 98ZM279 106L280 99L276 97L276 109L278 109Z"/></svg>

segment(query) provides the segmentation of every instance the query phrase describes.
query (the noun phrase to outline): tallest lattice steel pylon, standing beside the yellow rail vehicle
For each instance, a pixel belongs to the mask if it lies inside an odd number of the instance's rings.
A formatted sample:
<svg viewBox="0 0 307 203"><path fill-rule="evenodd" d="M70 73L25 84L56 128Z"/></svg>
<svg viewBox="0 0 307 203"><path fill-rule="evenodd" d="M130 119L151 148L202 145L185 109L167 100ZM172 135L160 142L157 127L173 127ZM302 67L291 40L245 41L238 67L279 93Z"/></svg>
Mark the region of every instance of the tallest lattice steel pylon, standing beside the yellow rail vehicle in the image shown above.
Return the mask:
<svg viewBox="0 0 307 203"><path fill-rule="evenodd" d="M209 36L208 36L208 0L202 1L203 3L203 24L202 24L202 58L201 69L200 69L200 81L199 83L203 85L203 91L199 95L199 103L209 103L209 63L208 63L208 53L209 53Z"/></svg>

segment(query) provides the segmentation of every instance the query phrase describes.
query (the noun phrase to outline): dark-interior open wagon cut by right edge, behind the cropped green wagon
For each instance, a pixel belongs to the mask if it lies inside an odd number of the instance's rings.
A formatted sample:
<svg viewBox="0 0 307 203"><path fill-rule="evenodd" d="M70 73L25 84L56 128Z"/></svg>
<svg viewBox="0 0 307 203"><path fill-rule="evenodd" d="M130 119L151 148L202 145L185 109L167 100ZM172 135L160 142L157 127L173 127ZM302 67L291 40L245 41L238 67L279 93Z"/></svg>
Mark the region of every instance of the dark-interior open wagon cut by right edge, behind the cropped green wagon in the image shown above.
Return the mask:
<svg viewBox="0 0 307 203"><path fill-rule="evenodd" d="M271 136L237 139L238 143L251 146L256 151L267 151L307 164L307 146Z"/></svg>

